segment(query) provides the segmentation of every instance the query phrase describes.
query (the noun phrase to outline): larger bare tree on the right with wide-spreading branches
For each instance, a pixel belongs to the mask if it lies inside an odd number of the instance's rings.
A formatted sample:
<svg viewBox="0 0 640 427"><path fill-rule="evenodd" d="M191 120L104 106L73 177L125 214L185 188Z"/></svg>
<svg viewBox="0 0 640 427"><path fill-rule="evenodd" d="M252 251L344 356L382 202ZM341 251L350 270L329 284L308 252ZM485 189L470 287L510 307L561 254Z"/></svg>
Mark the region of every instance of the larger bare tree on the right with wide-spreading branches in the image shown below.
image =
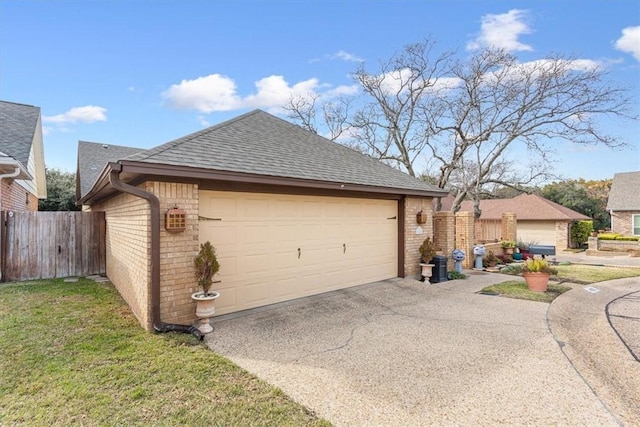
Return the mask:
<svg viewBox="0 0 640 427"><path fill-rule="evenodd" d="M479 215L480 189L485 184L522 185L548 177L550 148L558 140L622 145L598 128L599 116L636 119L630 114L627 91L608 84L606 72L589 61L558 55L519 63L504 51L487 49L458 62L453 76L460 84L432 98L424 117L434 135L427 146L441 164L441 188L464 167L463 159L474 164L475 176L458 191L454 210L471 195ZM528 179L523 179L523 168L508 182L497 176L504 172L505 150L514 143L524 145L537 165L530 167Z"/></svg>

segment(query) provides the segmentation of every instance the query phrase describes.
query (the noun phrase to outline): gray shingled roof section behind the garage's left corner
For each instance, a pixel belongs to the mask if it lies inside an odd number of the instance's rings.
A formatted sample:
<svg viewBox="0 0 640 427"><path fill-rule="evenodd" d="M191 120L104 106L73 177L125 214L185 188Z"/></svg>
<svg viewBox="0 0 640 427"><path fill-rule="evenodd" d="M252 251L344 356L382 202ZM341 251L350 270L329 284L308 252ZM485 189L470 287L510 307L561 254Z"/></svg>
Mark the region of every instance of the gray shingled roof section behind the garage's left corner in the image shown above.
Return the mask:
<svg viewBox="0 0 640 427"><path fill-rule="evenodd" d="M89 192L107 163L124 159L140 151L145 150L121 145L78 141L77 179L80 188L79 196Z"/></svg>

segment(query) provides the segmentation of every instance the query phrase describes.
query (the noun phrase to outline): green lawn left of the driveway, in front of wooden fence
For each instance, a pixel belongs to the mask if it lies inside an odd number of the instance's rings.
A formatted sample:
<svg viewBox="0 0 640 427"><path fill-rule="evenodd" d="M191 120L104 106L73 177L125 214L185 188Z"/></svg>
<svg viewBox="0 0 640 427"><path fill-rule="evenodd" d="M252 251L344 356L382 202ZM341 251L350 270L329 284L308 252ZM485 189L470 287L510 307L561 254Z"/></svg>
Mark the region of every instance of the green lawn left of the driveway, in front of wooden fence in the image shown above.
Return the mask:
<svg viewBox="0 0 640 427"><path fill-rule="evenodd" d="M109 283L0 284L0 425L327 426Z"/></svg>

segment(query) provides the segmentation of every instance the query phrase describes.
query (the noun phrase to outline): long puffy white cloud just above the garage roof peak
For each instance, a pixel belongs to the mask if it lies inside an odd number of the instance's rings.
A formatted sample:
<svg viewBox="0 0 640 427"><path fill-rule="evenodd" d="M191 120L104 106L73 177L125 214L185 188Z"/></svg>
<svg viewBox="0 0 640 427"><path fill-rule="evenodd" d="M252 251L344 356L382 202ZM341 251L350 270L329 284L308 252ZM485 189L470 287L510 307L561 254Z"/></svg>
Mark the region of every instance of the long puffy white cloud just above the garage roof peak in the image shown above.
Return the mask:
<svg viewBox="0 0 640 427"><path fill-rule="evenodd" d="M334 97L355 93L357 88L321 84L311 78L290 85L283 76L268 76L256 82L255 92L241 96L235 81L227 76L211 74L193 80L182 80L162 93L170 106L177 109L196 110L209 114L214 111L230 111L243 108L262 108L277 112L291 97L317 95ZM202 123L202 120L201 120Z"/></svg>

